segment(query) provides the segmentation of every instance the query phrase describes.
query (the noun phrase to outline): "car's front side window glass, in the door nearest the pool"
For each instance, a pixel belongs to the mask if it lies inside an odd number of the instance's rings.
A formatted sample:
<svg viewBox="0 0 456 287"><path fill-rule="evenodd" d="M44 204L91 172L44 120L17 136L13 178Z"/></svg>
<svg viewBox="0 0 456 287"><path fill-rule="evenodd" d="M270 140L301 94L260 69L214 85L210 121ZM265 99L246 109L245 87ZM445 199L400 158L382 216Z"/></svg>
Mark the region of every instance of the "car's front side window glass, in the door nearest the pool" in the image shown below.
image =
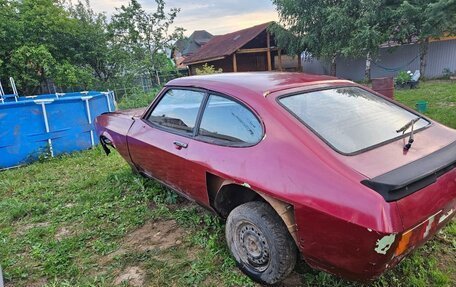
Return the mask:
<svg viewBox="0 0 456 287"><path fill-rule="evenodd" d="M160 99L147 120L154 124L191 134L204 92L171 89Z"/></svg>

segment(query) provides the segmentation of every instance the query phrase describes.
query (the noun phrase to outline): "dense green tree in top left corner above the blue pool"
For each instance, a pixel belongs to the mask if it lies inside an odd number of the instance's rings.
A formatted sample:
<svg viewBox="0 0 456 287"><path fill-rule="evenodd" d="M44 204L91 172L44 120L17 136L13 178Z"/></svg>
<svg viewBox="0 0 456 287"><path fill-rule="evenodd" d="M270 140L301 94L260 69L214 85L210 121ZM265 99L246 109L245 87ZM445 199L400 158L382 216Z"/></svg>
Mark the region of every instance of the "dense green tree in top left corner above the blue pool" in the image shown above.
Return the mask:
<svg viewBox="0 0 456 287"><path fill-rule="evenodd" d="M76 20L52 0L0 2L1 75L13 76L25 94L43 92L60 63L77 63Z"/></svg>

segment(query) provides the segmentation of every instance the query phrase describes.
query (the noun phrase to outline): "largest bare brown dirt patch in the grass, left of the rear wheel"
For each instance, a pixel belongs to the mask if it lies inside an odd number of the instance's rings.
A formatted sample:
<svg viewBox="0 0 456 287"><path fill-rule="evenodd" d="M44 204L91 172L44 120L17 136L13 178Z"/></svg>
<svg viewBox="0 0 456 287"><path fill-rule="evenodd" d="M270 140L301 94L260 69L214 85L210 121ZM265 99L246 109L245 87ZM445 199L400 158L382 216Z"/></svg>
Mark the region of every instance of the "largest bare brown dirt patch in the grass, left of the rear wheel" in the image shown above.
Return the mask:
<svg viewBox="0 0 456 287"><path fill-rule="evenodd" d="M151 250L164 250L182 244L186 232L180 228L175 220L148 222L139 229L128 234L121 247L99 261L104 265L115 257L130 252L147 252Z"/></svg>

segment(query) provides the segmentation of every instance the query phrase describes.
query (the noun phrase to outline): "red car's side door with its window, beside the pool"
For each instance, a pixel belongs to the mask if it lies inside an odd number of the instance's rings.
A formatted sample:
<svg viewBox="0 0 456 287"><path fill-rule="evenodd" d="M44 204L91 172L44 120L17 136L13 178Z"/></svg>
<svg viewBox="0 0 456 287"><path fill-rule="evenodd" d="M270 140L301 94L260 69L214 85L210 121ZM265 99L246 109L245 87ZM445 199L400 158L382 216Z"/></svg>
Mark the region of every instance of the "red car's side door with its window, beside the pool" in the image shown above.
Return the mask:
<svg viewBox="0 0 456 287"><path fill-rule="evenodd" d="M205 97L201 90L167 89L128 133L138 170L184 194L187 148Z"/></svg>

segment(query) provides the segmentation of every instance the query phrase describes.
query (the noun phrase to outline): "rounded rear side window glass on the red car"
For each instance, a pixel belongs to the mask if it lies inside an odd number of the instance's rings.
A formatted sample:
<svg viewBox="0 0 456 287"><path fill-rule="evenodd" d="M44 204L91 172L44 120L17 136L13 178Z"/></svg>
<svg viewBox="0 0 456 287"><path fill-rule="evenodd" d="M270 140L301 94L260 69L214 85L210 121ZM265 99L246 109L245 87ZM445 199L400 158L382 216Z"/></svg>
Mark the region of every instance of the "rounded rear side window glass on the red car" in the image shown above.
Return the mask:
<svg viewBox="0 0 456 287"><path fill-rule="evenodd" d="M263 137L263 127L245 106L224 97L210 95L198 135L203 140L226 145L252 145Z"/></svg>

